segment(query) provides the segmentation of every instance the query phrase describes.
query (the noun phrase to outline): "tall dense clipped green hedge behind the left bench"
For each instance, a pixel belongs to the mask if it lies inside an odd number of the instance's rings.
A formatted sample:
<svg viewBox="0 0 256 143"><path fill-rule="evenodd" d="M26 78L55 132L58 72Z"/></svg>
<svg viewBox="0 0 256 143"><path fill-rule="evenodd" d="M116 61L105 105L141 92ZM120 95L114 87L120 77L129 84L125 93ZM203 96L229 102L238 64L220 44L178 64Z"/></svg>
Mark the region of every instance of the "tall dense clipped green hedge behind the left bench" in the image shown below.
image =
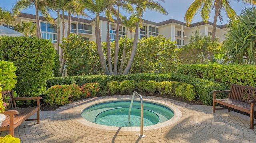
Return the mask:
<svg viewBox="0 0 256 143"><path fill-rule="evenodd" d="M52 43L36 37L5 36L0 37L0 41L0 59L11 61L17 67L14 90L18 96L40 95L55 66L56 50Z"/></svg>

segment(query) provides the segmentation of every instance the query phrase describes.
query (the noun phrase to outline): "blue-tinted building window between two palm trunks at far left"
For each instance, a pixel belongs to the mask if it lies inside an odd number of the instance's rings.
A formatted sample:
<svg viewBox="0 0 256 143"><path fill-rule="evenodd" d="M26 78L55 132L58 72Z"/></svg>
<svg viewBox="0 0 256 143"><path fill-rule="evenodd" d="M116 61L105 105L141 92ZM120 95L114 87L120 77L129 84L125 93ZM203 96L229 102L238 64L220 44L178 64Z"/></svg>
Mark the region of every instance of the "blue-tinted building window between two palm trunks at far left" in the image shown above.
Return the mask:
<svg viewBox="0 0 256 143"><path fill-rule="evenodd" d="M49 39L52 43L57 43L57 26L41 22L42 39Z"/></svg>

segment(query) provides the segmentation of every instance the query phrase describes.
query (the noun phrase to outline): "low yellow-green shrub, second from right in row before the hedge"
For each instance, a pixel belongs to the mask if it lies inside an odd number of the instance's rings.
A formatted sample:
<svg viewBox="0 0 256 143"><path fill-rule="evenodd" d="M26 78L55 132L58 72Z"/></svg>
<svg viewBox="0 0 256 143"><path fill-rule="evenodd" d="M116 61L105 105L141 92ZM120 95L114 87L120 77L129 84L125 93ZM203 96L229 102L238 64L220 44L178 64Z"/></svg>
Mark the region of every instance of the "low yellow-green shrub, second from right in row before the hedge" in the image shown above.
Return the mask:
<svg viewBox="0 0 256 143"><path fill-rule="evenodd" d="M172 94L172 82L162 81L157 82L157 90L160 94Z"/></svg>

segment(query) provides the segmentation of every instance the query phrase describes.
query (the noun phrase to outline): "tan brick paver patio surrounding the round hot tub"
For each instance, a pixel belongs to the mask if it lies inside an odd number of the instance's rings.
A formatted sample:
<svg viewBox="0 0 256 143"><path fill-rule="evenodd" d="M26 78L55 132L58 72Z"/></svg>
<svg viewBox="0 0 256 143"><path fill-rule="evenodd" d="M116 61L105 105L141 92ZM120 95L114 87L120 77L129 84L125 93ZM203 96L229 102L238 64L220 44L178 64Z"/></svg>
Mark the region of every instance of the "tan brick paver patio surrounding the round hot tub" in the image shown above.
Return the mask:
<svg viewBox="0 0 256 143"><path fill-rule="evenodd" d="M227 110L212 113L212 106L191 106L167 98L142 96L144 100L170 105L177 117L159 125L109 127L88 123L80 112L86 106L131 96L104 96L72 102L56 111L40 111L40 124L24 121L15 129L22 143L255 143L256 129L249 129L249 117ZM35 115L34 115L35 116ZM5 136L8 131L1 131Z"/></svg>

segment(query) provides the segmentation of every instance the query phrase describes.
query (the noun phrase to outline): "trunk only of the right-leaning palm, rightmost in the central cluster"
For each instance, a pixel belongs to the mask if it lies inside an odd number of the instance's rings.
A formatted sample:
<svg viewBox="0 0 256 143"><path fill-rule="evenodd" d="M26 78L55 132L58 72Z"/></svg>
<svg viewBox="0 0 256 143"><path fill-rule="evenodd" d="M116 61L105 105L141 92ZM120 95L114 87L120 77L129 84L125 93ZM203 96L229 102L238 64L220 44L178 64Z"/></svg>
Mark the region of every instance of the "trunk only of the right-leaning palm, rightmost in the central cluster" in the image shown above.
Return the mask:
<svg viewBox="0 0 256 143"><path fill-rule="evenodd" d="M137 18L138 19L140 18L140 9L138 9ZM128 60L128 63L126 65L126 68L124 69L123 75L128 74L128 72L131 69L133 59L135 57L137 42L138 42L138 29L139 29L139 21L136 22L136 28L135 28L135 33L134 33L134 38L133 38L133 43L132 43L132 51L131 51L131 55Z"/></svg>

